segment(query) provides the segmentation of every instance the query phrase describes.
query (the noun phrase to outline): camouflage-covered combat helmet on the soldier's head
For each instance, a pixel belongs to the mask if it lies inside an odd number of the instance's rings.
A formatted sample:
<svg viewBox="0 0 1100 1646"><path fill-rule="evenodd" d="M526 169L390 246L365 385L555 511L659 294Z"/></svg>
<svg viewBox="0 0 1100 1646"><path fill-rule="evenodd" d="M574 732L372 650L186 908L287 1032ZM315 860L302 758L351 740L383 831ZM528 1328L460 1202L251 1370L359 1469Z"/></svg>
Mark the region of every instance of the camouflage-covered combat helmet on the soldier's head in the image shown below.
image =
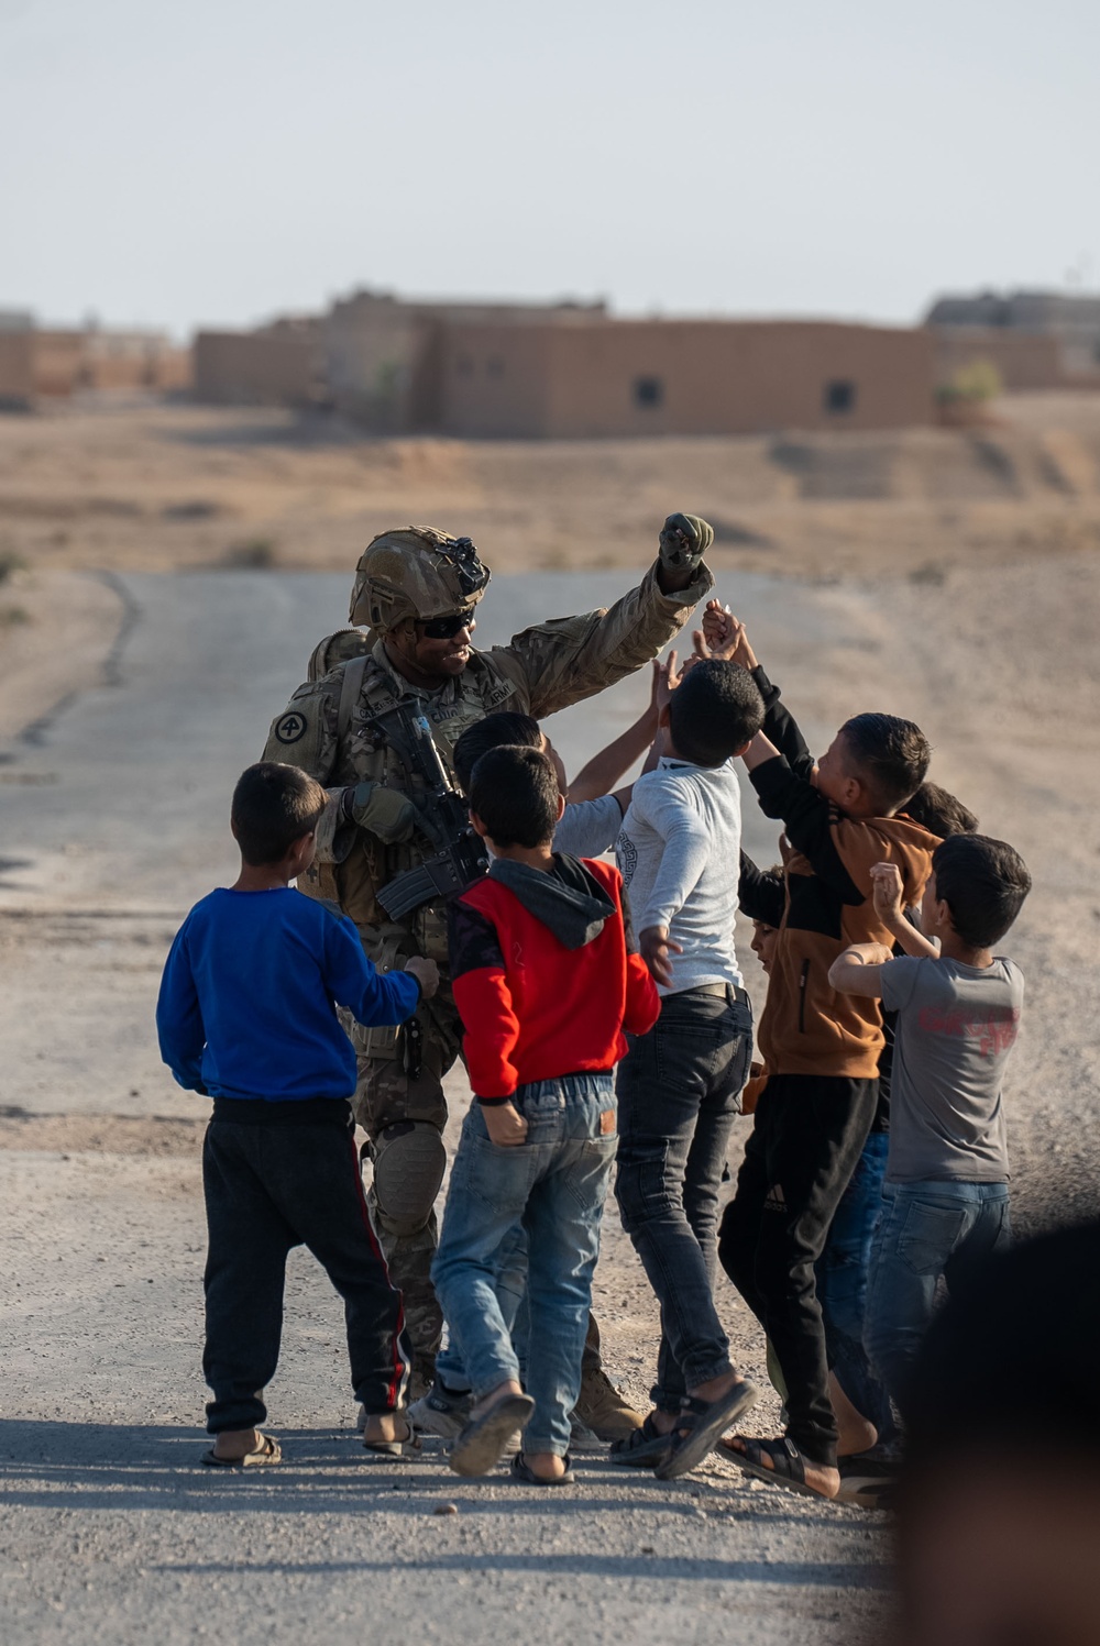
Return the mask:
<svg viewBox="0 0 1100 1646"><path fill-rule="evenodd" d="M351 591L351 621L385 634L407 617L431 622L478 604L487 566L468 537L431 525L379 532L364 548Z"/></svg>

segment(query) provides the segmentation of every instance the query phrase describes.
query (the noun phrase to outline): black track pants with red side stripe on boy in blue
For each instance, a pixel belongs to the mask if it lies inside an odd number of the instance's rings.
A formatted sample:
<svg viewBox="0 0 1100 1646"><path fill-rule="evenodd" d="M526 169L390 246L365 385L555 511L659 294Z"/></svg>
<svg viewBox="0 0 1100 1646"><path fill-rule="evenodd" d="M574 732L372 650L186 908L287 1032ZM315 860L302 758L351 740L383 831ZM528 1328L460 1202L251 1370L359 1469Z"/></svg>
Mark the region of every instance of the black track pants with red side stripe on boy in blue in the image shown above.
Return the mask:
<svg viewBox="0 0 1100 1646"><path fill-rule="evenodd" d="M224 1116L231 1118L226 1119ZM240 1118L237 1118L240 1116ZM287 1254L305 1244L344 1299L351 1383L367 1412L405 1404L410 1351L402 1294L375 1239L351 1106L331 1098L219 1098L203 1144L206 1350L211 1434L254 1429L278 1365Z"/></svg>

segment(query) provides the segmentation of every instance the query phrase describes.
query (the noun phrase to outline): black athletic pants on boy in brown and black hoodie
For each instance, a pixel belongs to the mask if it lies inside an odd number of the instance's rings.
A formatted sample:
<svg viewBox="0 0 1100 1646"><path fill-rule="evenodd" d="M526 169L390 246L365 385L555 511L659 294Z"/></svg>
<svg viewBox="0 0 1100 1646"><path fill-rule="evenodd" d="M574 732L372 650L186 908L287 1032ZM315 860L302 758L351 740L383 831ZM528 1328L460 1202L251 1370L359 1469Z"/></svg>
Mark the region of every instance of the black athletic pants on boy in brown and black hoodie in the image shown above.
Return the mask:
<svg viewBox="0 0 1100 1646"><path fill-rule="evenodd" d="M772 1075L718 1233L718 1259L779 1356L787 1434L818 1467L837 1462L837 1419L813 1264L876 1101L878 1080Z"/></svg>

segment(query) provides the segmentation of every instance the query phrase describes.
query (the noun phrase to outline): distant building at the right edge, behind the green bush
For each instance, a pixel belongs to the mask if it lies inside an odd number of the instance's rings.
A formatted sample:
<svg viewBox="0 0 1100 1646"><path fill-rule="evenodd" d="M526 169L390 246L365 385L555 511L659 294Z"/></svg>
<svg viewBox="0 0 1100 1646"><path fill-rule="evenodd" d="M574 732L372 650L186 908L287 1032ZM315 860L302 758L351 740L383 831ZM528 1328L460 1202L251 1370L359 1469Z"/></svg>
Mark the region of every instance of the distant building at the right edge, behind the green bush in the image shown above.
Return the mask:
<svg viewBox="0 0 1100 1646"><path fill-rule="evenodd" d="M1100 387L1100 298L1062 291L944 296L925 324L937 337L937 382L988 360L1006 388Z"/></svg>

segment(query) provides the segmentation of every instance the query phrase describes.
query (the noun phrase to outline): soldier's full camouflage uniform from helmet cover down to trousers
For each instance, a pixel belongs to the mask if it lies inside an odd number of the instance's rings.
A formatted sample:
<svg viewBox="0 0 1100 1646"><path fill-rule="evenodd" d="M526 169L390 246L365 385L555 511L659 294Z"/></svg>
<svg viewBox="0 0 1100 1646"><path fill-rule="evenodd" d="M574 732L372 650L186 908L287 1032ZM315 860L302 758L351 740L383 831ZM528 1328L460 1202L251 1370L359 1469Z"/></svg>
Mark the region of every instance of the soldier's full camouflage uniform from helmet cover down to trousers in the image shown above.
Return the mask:
<svg viewBox="0 0 1100 1646"><path fill-rule="evenodd" d="M352 622L384 627L382 614L367 599L371 556L374 553L377 565L379 545L389 545L403 556L403 581L417 614L423 619L440 614L438 579L428 586L433 542L446 548L456 540L425 528L375 538L359 563ZM422 568L426 570L426 586L418 589ZM426 955L441 969L438 994L417 1012L418 1073L407 1072L407 1030L352 1029L359 1060L354 1108L374 1157L372 1215L394 1279L405 1292L417 1363L426 1379L443 1327L430 1282L436 1244L433 1203L445 1167L443 1075L459 1053L463 1027L446 973L445 904L425 904L397 923L375 897L379 887L422 863L435 848L420 833L408 839L382 839L369 828L347 821L346 790L362 783L384 785L372 790L375 798L384 795L397 802L402 795L423 805L418 780L410 779L399 754L367 726L369 716L399 698L413 700L422 708L443 764L453 775L454 744L468 726L486 714L514 709L542 719L634 673L680 632L692 607L713 586L710 571L700 566L687 589L667 596L657 584L657 570L659 563L646 573L639 588L609 611L552 619L514 635L506 647L473 652L463 673L435 690L413 686L397 673L379 627L371 632L339 630L313 653L311 678L273 721L263 751L265 760L283 760L310 772L331 797L318 830L310 884L301 889L339 904L359 927L362 946L380 971L403 965L410 955ZM487 574L484 578L487 581ZM469 597L453 596L446 609L454 612L463 604L469 604Z"/></svg>

